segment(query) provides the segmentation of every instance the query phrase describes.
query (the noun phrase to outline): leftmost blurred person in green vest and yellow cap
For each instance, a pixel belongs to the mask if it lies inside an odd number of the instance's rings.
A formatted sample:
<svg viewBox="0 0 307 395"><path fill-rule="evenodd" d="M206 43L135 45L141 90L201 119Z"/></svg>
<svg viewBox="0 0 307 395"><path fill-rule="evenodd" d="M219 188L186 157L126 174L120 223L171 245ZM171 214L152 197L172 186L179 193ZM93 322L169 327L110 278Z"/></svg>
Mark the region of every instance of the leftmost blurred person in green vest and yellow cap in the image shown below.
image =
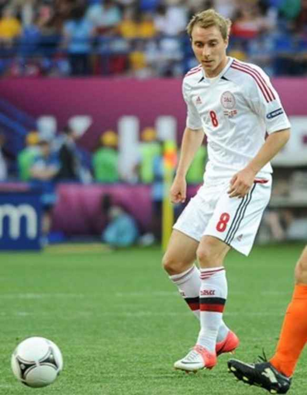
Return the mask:
<svg viewBox="0 0 307 395"><path fill-rule="evenodd" d="M22 181L30 180L30 169L34 160L39 155L39 147L37 146L39 141L39 134L36 131L32 131L26 135L26 147L19 152L17 156L19 178Z"/></svg>

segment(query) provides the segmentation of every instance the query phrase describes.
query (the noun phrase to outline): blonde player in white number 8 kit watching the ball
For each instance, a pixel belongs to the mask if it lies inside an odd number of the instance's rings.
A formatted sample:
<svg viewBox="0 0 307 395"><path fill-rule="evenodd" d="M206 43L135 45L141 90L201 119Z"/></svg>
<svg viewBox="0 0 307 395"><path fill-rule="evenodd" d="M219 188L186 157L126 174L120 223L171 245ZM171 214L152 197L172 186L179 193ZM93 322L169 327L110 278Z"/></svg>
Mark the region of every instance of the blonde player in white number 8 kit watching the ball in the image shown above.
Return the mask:
<svg viewBox="0 0 307 395"><path fill-rule="evenodd" d="M183 79L187 121L170 190L173 203L185 201L185 176L204 133L208 163L204 183L174 225L163 257L170 280L200 320L195 347L174 364L186 372L212 369L217 355L238 346L223 322L224 259L231 248L245 255L251 251L270 199L270 160L290 135L268 76L227 56L230 24L208 9L187 26L199 66Z"/></svg>

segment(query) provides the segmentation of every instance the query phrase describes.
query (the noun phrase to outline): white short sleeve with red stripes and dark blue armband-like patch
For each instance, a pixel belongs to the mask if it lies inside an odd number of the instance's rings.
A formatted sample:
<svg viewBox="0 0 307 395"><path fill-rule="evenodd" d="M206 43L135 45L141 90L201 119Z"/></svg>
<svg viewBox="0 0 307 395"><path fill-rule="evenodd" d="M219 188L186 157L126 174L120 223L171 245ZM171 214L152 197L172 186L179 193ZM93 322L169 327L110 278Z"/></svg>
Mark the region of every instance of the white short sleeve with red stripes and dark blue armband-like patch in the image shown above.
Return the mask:
<svg viewBox="0 0 307 395"><path fill-rule="evenodd" d="M255 69L246 89L249 105L263 119L268 134L291 127L278 93L261 69Z"/></svg>

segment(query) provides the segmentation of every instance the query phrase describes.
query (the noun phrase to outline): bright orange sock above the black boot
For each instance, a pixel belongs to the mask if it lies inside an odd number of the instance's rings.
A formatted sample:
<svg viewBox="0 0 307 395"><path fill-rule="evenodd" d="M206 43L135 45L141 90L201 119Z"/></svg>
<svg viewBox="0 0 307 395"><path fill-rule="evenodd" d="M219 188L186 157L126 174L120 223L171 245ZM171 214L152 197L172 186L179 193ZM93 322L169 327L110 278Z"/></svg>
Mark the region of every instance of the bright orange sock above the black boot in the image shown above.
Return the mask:
<svg viewBox="0 0 307 395"><path fill-rule="evenodd" d="M307 342L307 285L294 288L286 311L277 350L270 363L286 376L292 376L296 363Z"/></svg>

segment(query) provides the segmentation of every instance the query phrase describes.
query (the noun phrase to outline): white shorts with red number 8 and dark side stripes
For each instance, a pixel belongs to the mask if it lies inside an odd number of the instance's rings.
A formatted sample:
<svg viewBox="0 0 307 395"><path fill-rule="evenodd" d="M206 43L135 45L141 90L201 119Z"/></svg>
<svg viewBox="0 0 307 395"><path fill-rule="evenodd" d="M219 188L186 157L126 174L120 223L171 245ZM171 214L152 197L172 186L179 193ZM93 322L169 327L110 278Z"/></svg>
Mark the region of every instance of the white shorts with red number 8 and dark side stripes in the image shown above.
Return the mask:
<svg viewBox="0 0 307 395"><path fill-rule="evenodd" d="M217 237L248 255L270 200L271 185L271 175L259 179L244 198L229 198L229 180L218 185L203 185L189 201L173 229L197 241L204 235Z"/></svg>

